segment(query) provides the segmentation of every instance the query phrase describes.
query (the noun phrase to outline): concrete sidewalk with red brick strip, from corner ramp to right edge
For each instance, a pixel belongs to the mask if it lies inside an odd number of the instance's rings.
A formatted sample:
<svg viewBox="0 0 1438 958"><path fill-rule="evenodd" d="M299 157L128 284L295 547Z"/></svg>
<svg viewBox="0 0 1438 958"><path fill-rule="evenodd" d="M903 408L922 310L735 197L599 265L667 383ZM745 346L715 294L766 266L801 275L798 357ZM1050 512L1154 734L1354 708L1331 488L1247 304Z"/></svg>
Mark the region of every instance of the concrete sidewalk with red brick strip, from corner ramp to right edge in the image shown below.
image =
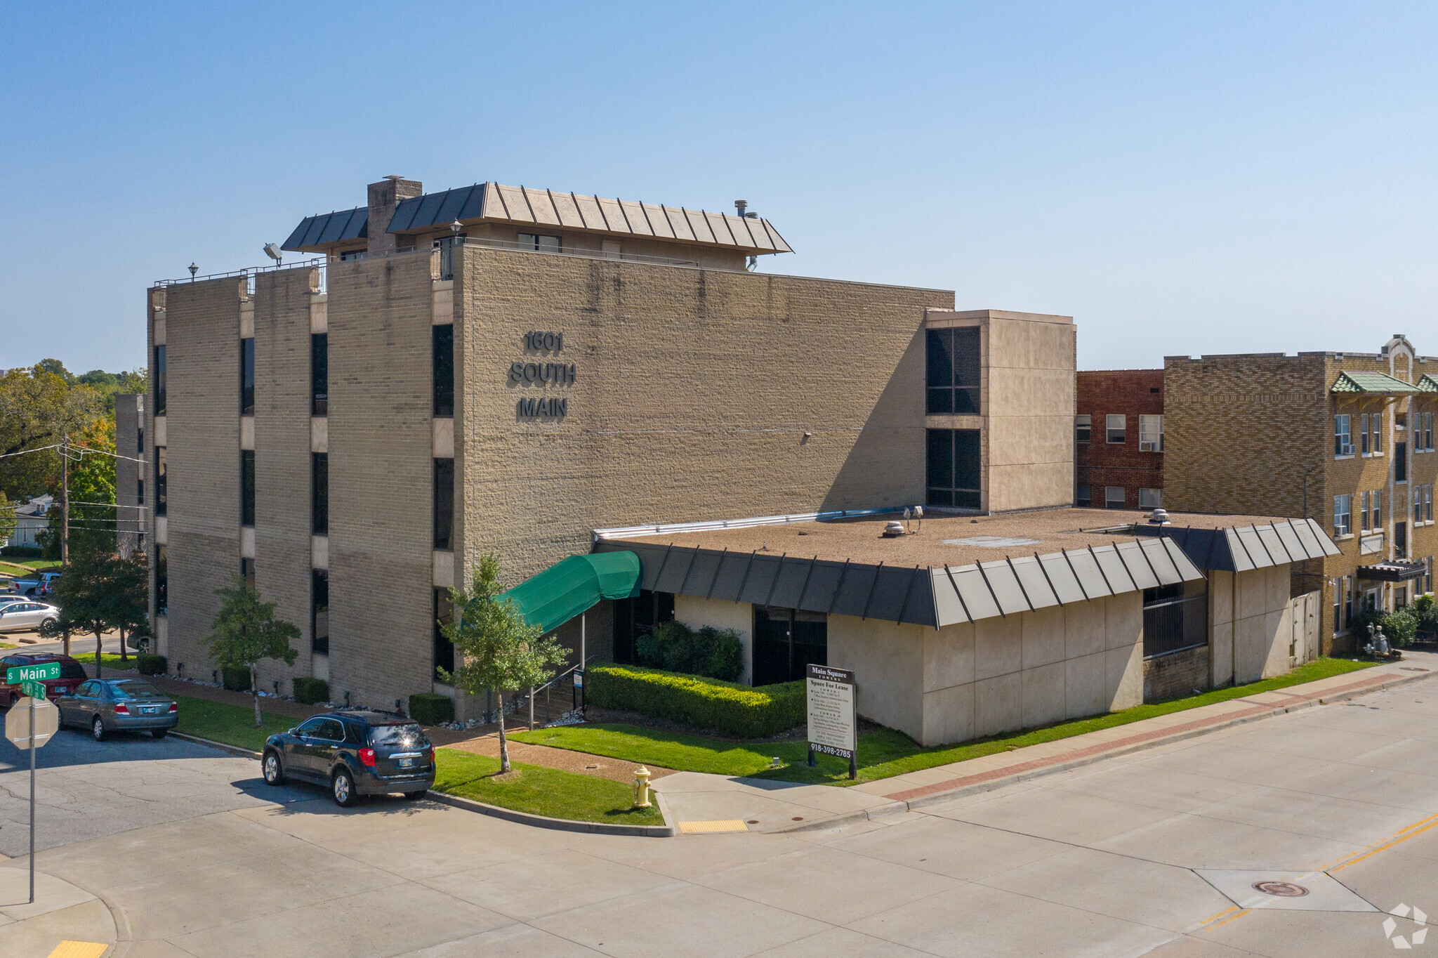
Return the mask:
<svg viewBox="0 0 1438 958"><path fill-rule="evenodd" d="M902 814L1024 778L1204 735L1240 722L1347 699L1438 675L1438 654L1215 702L1009 752L936 765L848 788L676 772L656 783L682 831L794 831ZM689 826L687 829L684 826Z"/></svg>

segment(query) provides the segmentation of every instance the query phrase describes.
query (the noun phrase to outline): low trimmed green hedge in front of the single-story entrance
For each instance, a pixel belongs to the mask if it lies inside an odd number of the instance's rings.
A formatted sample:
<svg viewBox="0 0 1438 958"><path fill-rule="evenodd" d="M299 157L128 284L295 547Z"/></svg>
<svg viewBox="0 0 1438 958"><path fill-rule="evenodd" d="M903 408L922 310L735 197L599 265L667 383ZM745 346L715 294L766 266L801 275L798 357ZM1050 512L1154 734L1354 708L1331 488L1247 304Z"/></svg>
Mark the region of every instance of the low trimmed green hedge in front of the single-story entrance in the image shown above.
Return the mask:
<svg viewBox="0 0 1438 958"><path fill-rule="evenodd" d="M638 712L738 738L766 738L807 718L805 683L751 688L718 679L604 665L584 673L584 698L601 709Z"/></svg>

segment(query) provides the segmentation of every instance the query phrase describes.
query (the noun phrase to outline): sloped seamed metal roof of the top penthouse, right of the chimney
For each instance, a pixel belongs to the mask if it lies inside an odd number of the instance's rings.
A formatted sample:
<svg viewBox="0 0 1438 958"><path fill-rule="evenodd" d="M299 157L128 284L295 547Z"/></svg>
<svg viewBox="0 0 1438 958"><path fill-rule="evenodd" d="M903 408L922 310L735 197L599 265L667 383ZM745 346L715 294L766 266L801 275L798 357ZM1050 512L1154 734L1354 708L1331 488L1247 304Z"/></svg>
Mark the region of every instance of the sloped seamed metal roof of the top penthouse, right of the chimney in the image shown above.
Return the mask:
<svg viewBox="0 0 1438 958"><path fill-rule="evenodd" d="M427 230L447 226L454 220L460 223L489 220L614 236L646 236L705 246L729 246L752 253L794 252L772 223L758 217L499 183L476 183L401 200L390 217L387 232Z"/></svg>

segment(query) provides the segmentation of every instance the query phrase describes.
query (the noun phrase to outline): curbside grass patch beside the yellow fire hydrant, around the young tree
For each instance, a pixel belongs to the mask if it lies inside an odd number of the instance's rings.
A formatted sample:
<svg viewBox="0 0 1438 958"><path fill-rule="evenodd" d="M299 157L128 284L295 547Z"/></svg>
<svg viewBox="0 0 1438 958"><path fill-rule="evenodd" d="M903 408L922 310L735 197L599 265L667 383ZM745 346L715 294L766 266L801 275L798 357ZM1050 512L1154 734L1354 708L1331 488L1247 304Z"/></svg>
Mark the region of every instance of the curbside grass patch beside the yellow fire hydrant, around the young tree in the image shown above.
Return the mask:
<svg viewBox="0 0 1438 958"><path fill-rule="evenodd" d="M180 706L181 709L184 706ZM659 806L631 808L634 790L592 775L510 762L510 778L499 780L499 759L454 748L436 749L434 790L489 806L551 818L608 824L664 824Z"/></svg>

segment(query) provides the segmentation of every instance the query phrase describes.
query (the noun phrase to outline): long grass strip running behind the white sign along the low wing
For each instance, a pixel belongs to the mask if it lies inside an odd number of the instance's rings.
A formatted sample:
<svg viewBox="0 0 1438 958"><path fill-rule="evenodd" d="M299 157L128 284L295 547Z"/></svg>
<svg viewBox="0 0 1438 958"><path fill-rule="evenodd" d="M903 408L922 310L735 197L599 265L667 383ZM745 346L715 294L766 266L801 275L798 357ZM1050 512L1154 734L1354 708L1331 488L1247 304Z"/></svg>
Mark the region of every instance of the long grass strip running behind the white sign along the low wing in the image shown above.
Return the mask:
<svg viewBox="0 0 1438 958"><path fill-rule="evenodd" d="M1168 702L1137 705L1122 712L1060 722L1058 725L1048 725L1025 732L981 738L961 745L923 748L903 732L890 728L870 728L858 734L858 781L889 778L890 775L902 775L919 771L920 768L933 768L935 765L981 758L1025 745L1053 742L1060 738L1096 732L1116 725L1127 725L1129 722L1168 715L1171 712L1182 712L1201 705L1212 705L1214 702L1225 702L1290 685L1316 682L1329 676L1343 675L1345 672L1366 669L1370 665L1373 663L1350 662L1349 659L1317 659L1299 666L1287 675L1250 685L1214 689L1212 692L1191 695L1182 699L1169 699ZM851 784L848 781L848 762L843 759L820 755L817 767L810 768L805 764L808 757L808 745L805 742L733 742L617 724L545 728L535 729L533 732L515 732L512 738L532 745L568 748L592 755L607 755L610 758L654 764L680 771L746 775L778 781ZM775 757L781 759L782 765L779 768L769 768L769 761Z"/></svg>

